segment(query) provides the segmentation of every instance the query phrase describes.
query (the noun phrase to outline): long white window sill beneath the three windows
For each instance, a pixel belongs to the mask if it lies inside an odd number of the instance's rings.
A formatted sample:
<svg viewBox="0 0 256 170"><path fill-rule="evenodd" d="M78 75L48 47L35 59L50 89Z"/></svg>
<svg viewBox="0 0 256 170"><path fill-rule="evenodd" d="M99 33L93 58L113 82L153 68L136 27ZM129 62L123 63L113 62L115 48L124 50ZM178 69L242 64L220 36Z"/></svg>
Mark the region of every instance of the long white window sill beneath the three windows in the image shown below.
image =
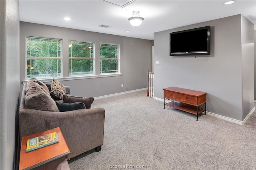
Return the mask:
<svg viewBox="0 0 256 170"><path fill-rule="evenodd" d="M66 80L79 80L79 79L93 79L93 78L100 78L100 77L114 77L120 76L122 73L112 73L112 74L102 74L102 75L87 75L87 76L72 76L72 77L56 77L58 81L66 81ZM52 78L47 79L39 79L42 82L52 82ZM28 80L23 80L22 83L26 84Z"/></svg>

